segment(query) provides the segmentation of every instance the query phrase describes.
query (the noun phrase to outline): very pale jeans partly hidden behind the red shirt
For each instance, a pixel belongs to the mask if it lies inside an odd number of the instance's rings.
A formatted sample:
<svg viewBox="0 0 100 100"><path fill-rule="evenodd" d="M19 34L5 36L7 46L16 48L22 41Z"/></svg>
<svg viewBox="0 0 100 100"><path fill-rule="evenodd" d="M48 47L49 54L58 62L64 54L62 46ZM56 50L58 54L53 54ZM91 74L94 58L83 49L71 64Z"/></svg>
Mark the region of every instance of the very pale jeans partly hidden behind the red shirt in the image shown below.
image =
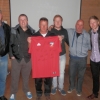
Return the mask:
<svg viewBox="0 0 100 100"><path fill-rule="evenodd" d="M65 64L66 64L66 54L59 56L59 70L60 70L60 76L59 77L53 77L53 88L63 89L64 87L64 72L65 72ZM58 82L57 82L58 79Z"/></svg>

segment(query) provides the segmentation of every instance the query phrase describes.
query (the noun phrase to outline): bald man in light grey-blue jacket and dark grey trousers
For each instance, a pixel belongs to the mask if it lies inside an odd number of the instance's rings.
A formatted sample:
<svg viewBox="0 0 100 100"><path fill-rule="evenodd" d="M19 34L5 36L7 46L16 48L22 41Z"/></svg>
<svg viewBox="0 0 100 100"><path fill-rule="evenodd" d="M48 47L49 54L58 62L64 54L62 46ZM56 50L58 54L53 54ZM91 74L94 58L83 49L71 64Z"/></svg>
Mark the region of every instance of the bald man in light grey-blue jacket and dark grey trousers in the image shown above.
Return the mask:
<svg viewBox="0 0 100 100"><path fill-rule="evenodd" d="M84 30L84 21L78 20L75 29L68 29L69 37L69 90L71 93L76 89L77 96L81 96L82 83L87 64L88 50L90 46L90 35ZM77 82L76 82L77 80ZM76 83L76 84L75 84Z"/></svg>

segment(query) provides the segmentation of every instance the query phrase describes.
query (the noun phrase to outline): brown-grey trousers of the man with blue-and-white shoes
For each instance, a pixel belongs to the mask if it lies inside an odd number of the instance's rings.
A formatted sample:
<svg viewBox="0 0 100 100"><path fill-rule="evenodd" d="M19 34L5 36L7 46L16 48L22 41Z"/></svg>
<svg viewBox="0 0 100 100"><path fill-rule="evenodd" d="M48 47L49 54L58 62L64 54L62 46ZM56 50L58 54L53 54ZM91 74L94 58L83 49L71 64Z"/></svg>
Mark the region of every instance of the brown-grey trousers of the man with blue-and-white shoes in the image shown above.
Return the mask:
<svg viewBox="0 0 100 100"><path fill-rule="evenodd" d="M31 61L26 63L25 60L22 59L22 61L18 63L16 59L12 60L11 94L17 93L20 74L22 76L24 93L27 93L29 91L28 82L29 82L30 72L31 72Z"/></svg>

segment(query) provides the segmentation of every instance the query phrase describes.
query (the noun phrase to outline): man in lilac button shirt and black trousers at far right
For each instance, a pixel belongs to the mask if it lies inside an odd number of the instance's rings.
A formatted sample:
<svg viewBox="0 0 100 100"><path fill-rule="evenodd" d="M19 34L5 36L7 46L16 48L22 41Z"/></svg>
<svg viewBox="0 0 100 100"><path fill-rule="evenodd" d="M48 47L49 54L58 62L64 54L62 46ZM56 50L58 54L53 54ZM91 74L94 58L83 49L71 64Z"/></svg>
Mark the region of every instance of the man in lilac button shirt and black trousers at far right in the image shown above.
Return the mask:
<svg viewBox="0 0 100 100"><path fill-rule="evenodd" d="M98 98L99 93L99 75L100 75L100 26L99 19L96 16L91 16L90 23L90 36L92 52L90 56L90 66L93 78L93 92L88 96L89 100Z"/></svg>

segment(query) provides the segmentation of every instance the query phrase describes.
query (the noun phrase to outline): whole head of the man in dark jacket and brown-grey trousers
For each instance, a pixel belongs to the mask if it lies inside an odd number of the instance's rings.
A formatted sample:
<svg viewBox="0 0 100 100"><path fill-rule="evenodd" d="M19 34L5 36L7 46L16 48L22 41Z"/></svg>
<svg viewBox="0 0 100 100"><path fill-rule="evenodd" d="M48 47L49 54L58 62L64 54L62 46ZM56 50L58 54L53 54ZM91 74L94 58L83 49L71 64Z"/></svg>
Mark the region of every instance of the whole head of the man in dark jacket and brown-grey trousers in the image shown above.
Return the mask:
<svg viewBox="0 0 100 100"><path fill-rule="evenodd" d="M28 17L25 14L20 14L18 17L19 25L24 30L28 25Z"/></svg>

